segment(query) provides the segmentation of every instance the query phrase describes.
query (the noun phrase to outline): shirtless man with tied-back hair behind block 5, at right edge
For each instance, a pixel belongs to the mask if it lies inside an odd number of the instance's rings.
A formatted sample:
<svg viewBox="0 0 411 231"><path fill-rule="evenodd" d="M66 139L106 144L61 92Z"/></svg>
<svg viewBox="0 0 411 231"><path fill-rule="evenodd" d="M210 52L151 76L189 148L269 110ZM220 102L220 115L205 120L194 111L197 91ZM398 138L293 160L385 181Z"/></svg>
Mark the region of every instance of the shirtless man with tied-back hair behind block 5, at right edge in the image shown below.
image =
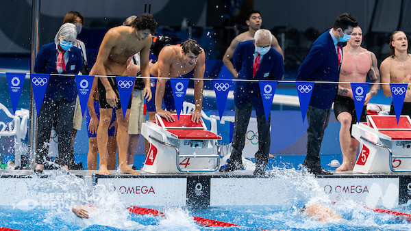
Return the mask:
<svg viewBox="0 0 411 231"><path fill-rule="evenodd" d="M394 31L390 36L390 57L384 59L379 69L383 83L411 83L411 54L408 53L408 40L403 31ZM382 84L382 91L386 97L391 96L389 84ZM390 115L395 115L391 103ZM401 115L411 117L411 91L407 90Z"/></svg>

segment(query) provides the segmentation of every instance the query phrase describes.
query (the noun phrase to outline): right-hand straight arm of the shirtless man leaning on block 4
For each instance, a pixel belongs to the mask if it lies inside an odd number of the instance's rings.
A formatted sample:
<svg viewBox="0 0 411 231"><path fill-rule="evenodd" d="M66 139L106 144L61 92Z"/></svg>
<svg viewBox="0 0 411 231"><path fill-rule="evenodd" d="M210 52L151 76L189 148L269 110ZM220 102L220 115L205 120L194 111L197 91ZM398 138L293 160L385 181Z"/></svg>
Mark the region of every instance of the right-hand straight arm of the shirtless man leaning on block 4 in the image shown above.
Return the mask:
<svg viewBox="0 0 411 231"><path fill-rule="evenodd" d="M201 52L197 59L197 64L194 68L194 79L203 79L204 72L206 71L206 54ZM203 87L202 80L194 81L194 98L195 98L195 110L191 111L191 121L198 123L201 119L201 110L203 109Z"/></svg>

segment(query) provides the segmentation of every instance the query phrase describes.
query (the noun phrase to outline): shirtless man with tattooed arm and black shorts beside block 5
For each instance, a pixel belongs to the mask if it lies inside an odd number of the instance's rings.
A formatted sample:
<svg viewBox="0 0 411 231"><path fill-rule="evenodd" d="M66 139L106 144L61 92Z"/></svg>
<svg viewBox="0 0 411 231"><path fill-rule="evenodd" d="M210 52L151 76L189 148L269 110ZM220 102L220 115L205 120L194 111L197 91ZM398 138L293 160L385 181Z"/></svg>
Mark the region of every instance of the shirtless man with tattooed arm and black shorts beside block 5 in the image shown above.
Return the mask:
<svg viewBox="0 0 411 231"><path fill-rule="evenodd" d="M355 27L347 46L343 48L343 63L340 70L340 82L364 83L368 75L373 83L379 83L377 57L371 51L361 47L362 30ZM366 94L364 105L369 103L371 97L379 90L379 84L373 84ZM356 124L357 116L353 100L351 84L338 84L338 92L334 102L334 113L341 123L340 146L343 153L343 164L336 169L338 172L352 170L357 157L358 141L351 137L352 124ZM366 120L366 107L362 109L360 121Z"/></svg>

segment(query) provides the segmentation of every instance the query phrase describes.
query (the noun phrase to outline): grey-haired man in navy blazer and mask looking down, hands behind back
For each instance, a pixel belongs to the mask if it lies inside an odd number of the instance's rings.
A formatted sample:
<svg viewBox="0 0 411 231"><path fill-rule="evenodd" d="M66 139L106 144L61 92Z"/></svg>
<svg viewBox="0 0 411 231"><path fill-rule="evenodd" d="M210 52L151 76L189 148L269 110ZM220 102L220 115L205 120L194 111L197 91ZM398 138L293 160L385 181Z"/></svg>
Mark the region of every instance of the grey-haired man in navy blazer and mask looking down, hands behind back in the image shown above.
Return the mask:
<svg viewBox="0 0 411 231"><path fill-rule="evenodd" d="M271 47L271 40L272 36L269 30L259 29L254 35L254 40L238 44L233 57L237 79L282 79L284 74L283 58ZM256 59L260 60L259 64L256 64ZM271 116L267 122L258 81L236 81L234 103L236 105L236 121L232 141L233 150L227 167L220 169L220 171L232 172L244 168L241 154L245 145L245 134L251 111L254 107L257 113L259 137L254 176L264 176L269 161Z"/></svg>

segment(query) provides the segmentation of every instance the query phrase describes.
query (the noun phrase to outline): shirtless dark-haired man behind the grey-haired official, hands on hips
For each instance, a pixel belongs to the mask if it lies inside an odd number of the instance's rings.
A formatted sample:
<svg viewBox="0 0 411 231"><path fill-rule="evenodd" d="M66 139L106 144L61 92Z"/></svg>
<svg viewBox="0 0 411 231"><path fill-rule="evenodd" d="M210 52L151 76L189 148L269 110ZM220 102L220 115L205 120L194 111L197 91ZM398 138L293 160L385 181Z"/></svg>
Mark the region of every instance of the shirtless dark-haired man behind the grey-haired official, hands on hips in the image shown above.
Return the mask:
<svg viewBox="0 0 411 231"><path fill-rule="evenodd" d="M261 28L262 24L260 12L257 10L250 10L247 14L247 21L245 21L245 23L247 23L247 25L249 26L249 30L245 31L244 33L240 33L236 38L234 38L234 40L232 40L231 44L229 44L229 47L227 48L227 51L225 51L223 57L223 63L227 67L229 72L233 75L233 77L237 77L237 72L234 69L234 66L231 61L233 59L234 51L236 51L238 43L254 39L254 34L258 29ZM271 46L273 46L275 50L277 50L281 55L283 55L284 60L284 54L275 36L273 36Z"/></svg>

